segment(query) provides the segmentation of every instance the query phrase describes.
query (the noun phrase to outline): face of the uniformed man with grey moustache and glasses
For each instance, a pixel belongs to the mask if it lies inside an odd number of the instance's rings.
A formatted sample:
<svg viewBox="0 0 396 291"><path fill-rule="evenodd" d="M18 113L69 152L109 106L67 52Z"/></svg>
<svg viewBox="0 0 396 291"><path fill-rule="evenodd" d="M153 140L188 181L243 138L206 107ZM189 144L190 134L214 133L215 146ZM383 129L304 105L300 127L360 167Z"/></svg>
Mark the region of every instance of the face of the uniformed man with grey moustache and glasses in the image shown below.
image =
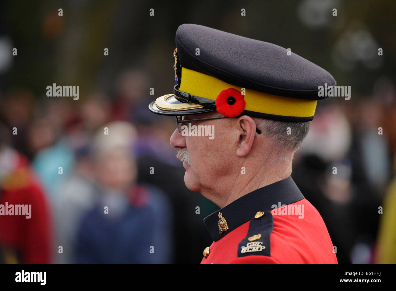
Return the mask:
<svg viewBox="0 0 396 291"><path fill-rule="evenodd" d="M183 120L186 120L185 125L188 126L188 119L212 116L213 113L194 114L183 116ZM213 139L208 136L183 136L177 129L173 132L170 143L174 148L179 148L177 158L186 169L184 181L188 189L199 192L213 190L216 186L230 181L222 178L235 172L232 168L235 166L233 161L236 155L231 120L222 118L191 122L191 126L210 126L214 129Z"/></svg>

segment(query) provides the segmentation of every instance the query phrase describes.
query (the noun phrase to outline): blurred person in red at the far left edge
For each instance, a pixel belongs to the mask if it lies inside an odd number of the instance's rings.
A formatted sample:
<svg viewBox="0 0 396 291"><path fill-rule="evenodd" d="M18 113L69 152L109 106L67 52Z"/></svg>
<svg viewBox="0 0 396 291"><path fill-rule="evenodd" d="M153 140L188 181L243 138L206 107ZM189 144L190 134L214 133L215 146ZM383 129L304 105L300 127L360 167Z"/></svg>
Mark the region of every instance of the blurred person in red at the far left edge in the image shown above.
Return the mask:
<svg viewBox="0 0 396 291"><path fill-rule="evenodd" d="M27 158L8 146L7 127L0 123L0 205L24 204L31 208L30 218L0 211L0 263L50 263L49 205Z"/></svg>

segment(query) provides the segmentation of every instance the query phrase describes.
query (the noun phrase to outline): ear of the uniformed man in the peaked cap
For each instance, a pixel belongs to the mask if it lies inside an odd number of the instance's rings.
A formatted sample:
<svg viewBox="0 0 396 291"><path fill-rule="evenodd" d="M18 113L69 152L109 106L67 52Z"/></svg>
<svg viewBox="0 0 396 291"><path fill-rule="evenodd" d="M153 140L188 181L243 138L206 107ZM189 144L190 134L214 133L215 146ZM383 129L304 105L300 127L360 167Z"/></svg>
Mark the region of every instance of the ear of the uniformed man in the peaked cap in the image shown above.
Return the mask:
<svg viewBox="0 0 396 291"><path fill-rule="evenodd" d="M238 137L236 140L236 155L239 157L246 156L251 146L256 133L256 123L247 115L241 116L236 122L238 130Z"/></svg>

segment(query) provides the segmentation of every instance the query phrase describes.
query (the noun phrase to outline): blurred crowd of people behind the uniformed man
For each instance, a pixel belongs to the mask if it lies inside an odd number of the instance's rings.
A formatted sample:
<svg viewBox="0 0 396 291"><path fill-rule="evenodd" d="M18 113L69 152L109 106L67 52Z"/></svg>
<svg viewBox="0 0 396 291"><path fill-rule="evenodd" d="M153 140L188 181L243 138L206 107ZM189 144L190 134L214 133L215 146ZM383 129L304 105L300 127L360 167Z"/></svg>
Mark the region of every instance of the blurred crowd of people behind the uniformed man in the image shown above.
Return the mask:
<svg viewBox="0 0 396 291"><path fill-rule="evenodd" d="M0 217L3 262L200 261L217 207L185 187L174 120L149 112L146 78L123 72L111 97L2 99L0 204L32 204L31 219ZM295 156L340 263L396 262L395 125L394 84L379 80L371 97L320 104Z"/></svg>

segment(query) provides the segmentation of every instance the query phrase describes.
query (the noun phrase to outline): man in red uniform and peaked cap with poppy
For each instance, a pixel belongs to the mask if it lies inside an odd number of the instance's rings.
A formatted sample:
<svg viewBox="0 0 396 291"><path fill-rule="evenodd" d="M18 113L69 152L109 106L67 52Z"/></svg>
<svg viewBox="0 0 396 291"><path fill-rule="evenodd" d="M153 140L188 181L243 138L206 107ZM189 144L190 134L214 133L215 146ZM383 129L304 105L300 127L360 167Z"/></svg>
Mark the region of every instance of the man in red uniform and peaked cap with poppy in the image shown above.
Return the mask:
<svg viewBox="0 0 396 291"><path fill-rule="evenodd" d="M200 25L181 25L176 46L174 93L149 108L176 116L170 143L185 184L221 208L204 219L213 243L201 263L337 263L290 177L324 98L318 86L333 77L274 44Z"/></svg>

